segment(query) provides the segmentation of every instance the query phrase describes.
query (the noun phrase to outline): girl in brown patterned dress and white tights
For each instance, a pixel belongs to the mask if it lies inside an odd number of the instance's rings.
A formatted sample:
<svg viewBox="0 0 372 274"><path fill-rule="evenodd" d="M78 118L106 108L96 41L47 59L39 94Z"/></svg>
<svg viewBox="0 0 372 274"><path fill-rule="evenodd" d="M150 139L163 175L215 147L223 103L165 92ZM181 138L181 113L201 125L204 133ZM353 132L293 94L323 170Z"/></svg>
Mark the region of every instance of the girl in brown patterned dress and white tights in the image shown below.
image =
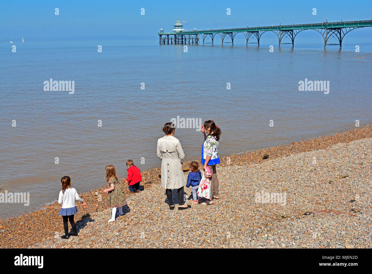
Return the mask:
<svg viewBox="0 0 372 274"><path fill-rule="evenodd" d="M115 167L112 165L106 167L106 182L109 182L110 188L103 190L103 193L109 194L109 207L112 208L112 217L109 222L113 222L116 208L119 209L119 215L124 215L122 206L126 205L126 196L116 176Z"/></svg>

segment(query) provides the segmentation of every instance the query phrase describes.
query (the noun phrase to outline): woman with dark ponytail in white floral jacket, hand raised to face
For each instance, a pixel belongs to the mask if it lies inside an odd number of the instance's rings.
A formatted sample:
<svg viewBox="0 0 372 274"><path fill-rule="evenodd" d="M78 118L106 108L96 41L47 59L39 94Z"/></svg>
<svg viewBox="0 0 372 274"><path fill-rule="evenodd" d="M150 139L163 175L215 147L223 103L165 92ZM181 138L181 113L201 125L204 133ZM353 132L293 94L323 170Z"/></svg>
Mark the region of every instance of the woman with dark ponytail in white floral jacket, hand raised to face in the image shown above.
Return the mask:
<svg viewBox="0 0 372 274"><path fill-rule="evenodd" d="M218 157L218 141L221 129L212 121L204 122L202 126L204 143L202 148L202 165L205 170L208 166L211 170L211 198L202 204L213 204L213 199L219 199L218 196L218 177L216 165L220 163Z"/></svg>

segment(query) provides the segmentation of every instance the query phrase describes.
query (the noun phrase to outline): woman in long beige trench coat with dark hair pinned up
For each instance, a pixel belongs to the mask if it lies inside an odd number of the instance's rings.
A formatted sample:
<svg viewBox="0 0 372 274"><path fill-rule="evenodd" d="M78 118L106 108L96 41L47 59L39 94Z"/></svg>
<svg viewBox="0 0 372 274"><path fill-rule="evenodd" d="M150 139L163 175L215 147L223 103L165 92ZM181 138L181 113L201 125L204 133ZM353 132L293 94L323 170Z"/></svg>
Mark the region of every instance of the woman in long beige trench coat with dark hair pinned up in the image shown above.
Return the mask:
<svg viewBox="0 0 372 274"><path fill-rule="evenodd" d="M158 139L157 155L161 160L161 186L166 189L169 209L174 210L172 189L177 189L178 210L190 208L183 201L183 186L185 176L182 171L181 161L185 157L180 141L173 137L175 128L173 123L166 123L163 127L166 136Z"/></svg>

